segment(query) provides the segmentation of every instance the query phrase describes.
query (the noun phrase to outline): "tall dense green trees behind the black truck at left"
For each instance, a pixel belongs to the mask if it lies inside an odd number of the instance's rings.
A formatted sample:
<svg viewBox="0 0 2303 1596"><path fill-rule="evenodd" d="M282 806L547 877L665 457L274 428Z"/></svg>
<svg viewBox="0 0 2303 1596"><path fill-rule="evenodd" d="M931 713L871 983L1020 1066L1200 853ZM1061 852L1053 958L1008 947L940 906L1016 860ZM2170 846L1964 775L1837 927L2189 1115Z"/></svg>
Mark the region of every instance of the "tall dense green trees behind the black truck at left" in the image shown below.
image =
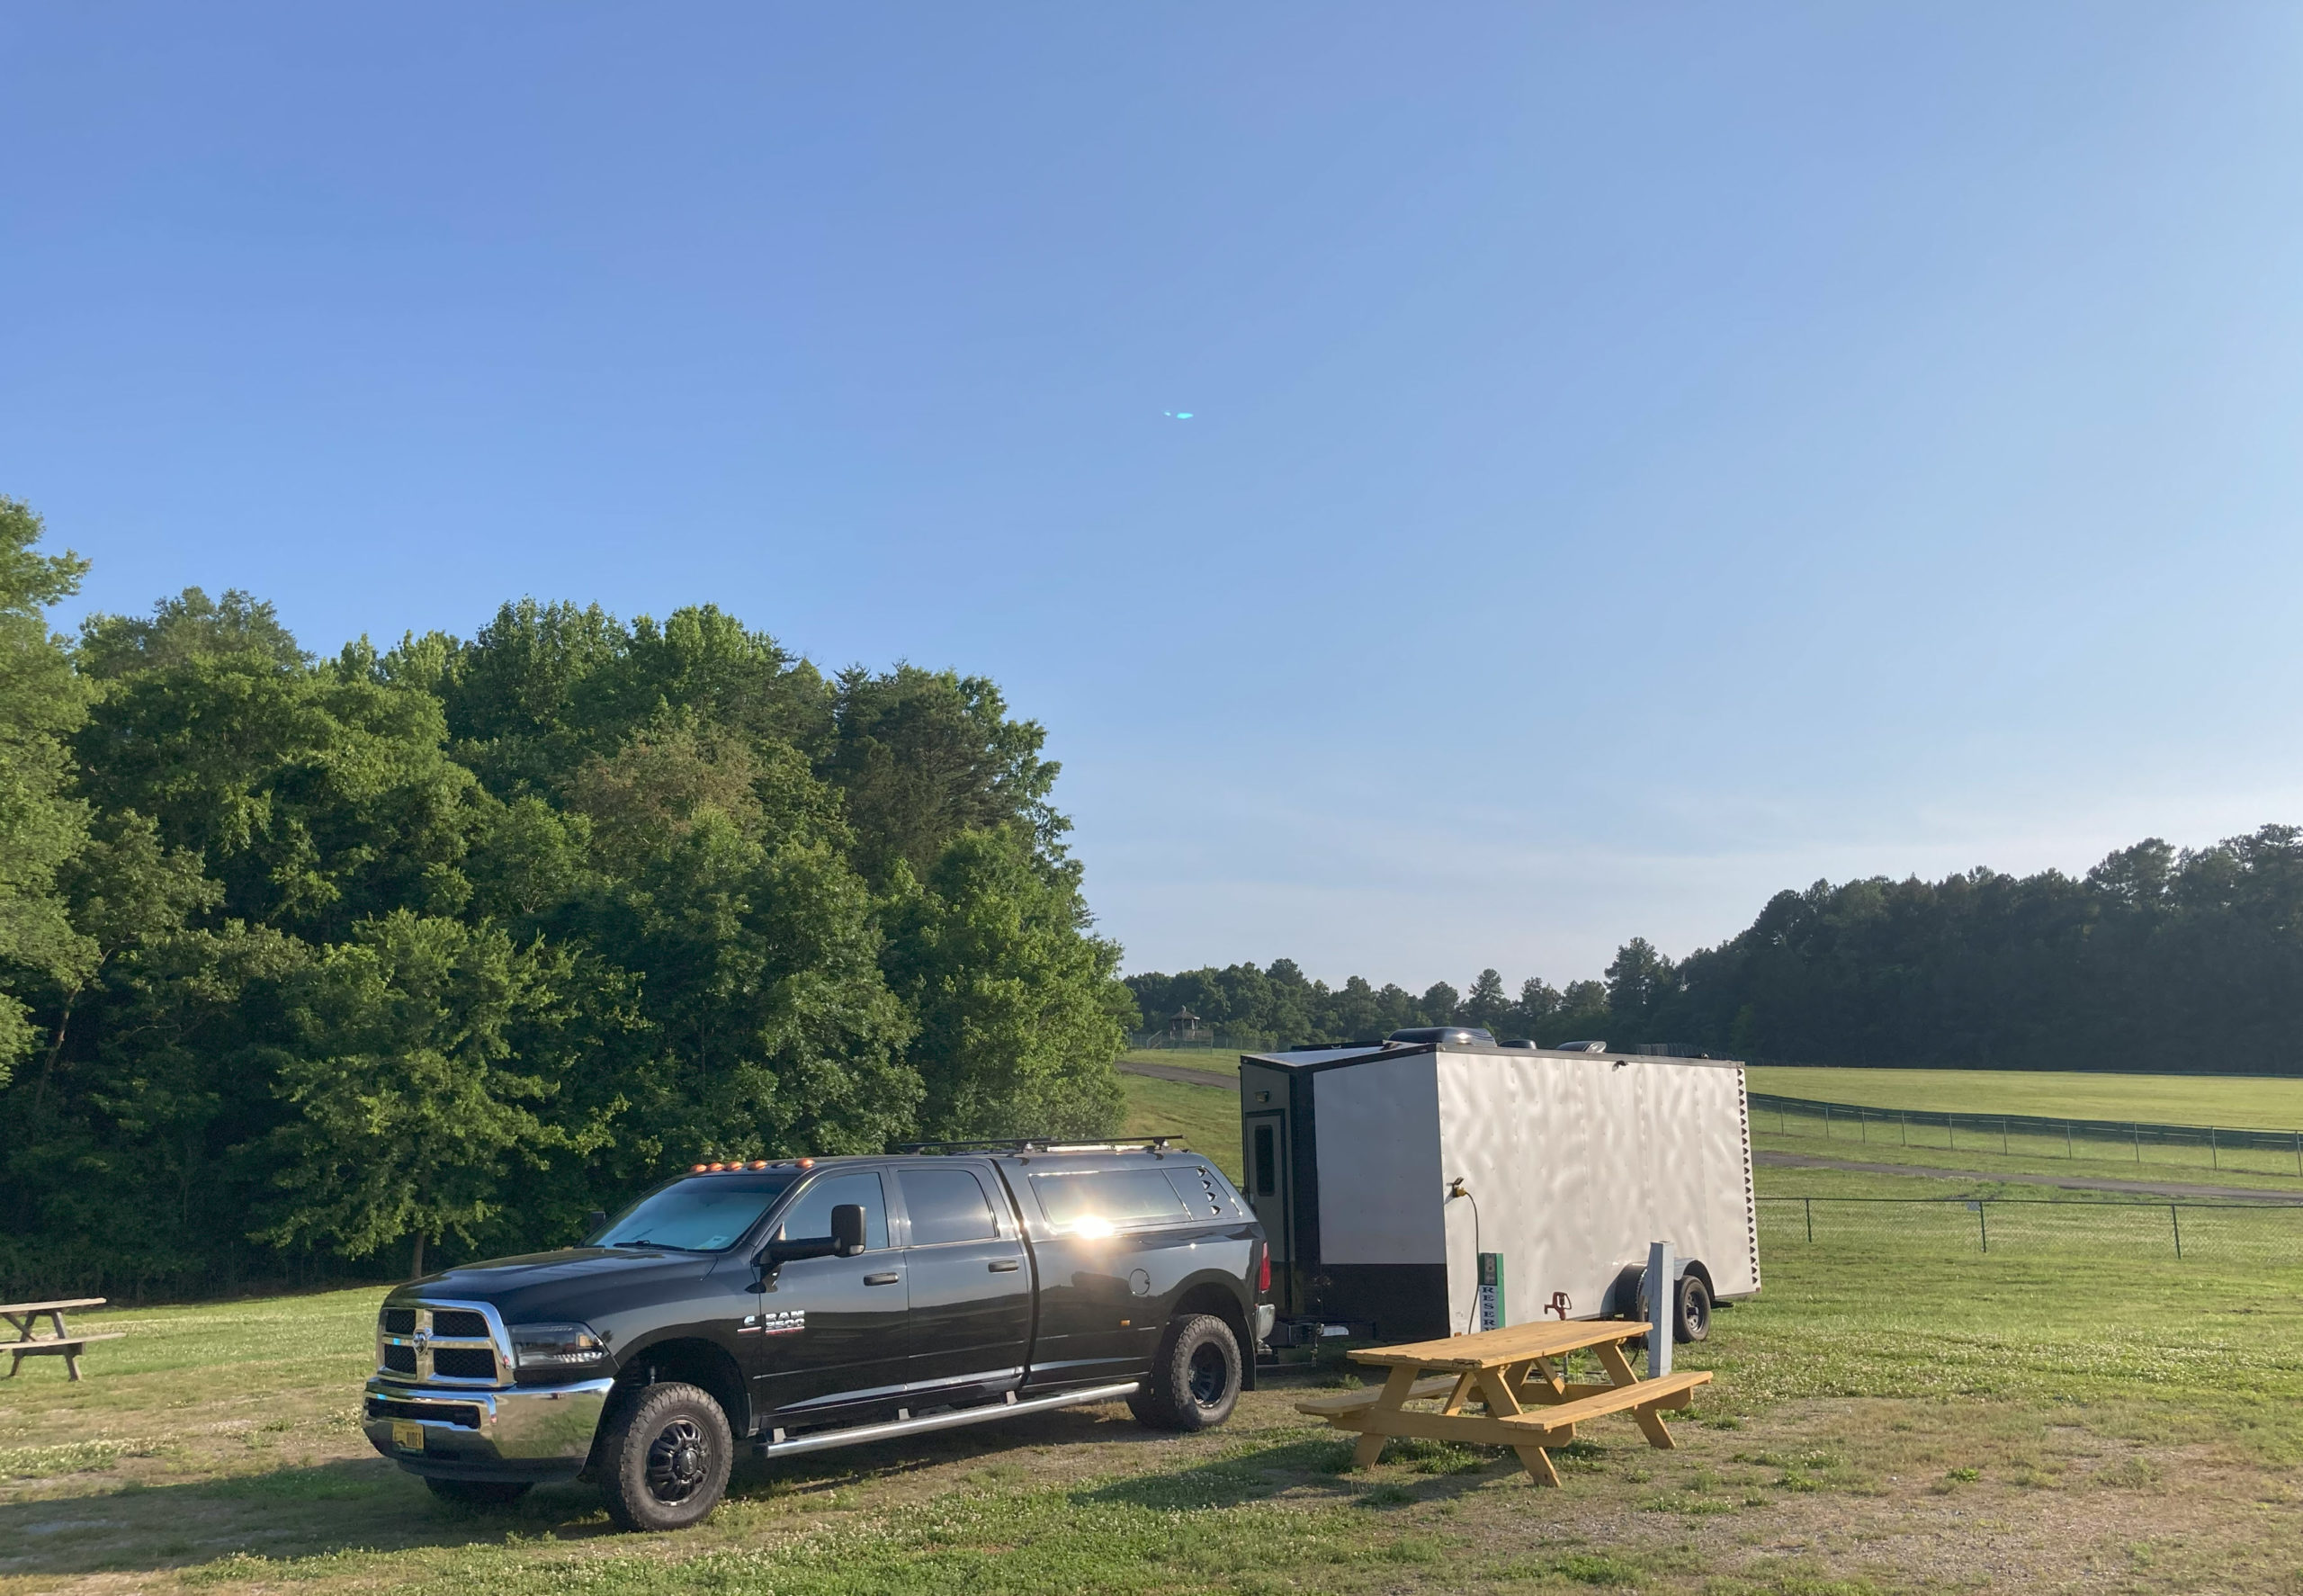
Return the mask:
<svg viewBox="0 0 2303 1596"><path fill-rule="evenodd" d="M983 679L716 608L313 659L0 500L0 1278L557 1244L691 1158L1101 1133L1135 1023Z"/></svg>

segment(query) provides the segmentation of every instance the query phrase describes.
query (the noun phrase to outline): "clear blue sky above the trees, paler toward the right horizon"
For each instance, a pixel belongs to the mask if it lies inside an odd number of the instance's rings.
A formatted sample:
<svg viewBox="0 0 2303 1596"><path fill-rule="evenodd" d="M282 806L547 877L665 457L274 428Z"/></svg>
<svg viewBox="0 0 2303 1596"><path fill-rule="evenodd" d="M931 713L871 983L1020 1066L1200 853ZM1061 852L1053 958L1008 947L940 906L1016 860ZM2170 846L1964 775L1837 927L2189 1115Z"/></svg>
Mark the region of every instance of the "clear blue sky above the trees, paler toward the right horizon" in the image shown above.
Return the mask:
<svg viewBox="0 0 2303 1596"><path fill-rule="evenodd" d="M2303 822L2303 9L0 12L0 493L1046 721L1128 965ZM1191 410L1177 421L1165 412Z"/></svg>

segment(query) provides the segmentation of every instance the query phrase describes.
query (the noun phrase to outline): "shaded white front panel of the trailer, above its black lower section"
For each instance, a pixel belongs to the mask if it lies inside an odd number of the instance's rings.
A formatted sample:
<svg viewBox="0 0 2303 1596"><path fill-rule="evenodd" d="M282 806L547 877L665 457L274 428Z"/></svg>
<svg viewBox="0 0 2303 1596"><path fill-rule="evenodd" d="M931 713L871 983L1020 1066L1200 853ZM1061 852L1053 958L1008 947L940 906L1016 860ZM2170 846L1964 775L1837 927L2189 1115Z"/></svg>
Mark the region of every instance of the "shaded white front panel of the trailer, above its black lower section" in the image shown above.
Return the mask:
<svg viewBox="0 0 2303 1596"><path fill-rule="evenodd" d="M1320 1076L1320 1262L1444 1257L1435 1066L1423 1052Z"/></svg>

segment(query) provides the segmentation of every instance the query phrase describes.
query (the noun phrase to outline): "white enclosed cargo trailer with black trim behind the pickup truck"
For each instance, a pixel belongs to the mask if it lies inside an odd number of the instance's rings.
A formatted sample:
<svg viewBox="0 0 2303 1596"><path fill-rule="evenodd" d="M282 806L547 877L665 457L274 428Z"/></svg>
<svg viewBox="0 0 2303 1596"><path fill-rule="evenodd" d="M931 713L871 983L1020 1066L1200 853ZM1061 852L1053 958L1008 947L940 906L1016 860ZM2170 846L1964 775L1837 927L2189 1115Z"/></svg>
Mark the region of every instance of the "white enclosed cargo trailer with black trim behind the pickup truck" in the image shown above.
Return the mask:
<svg viewBox="0 0 2303 1596"><path fill-rule="evenodd" d="M1709 1299L1759 1290L1736 1062L1453 1041L1255 1052L1239 1115L1278 1310L1301 1333L1644 1317L1651 1241Z"/></svg>

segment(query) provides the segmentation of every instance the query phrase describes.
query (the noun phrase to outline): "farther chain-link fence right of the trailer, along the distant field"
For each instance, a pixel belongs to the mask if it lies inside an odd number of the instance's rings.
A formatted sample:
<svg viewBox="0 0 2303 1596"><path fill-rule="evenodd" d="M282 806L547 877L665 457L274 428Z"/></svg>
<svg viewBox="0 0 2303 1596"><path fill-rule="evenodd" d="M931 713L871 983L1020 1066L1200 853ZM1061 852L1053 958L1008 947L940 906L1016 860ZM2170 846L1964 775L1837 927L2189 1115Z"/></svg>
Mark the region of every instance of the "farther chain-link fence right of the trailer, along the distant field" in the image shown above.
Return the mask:
<svg viewBox="0 0 2303 1596"><path fill-rule="evenodd" d="M2038 1115L1946 1115L1923 1108L1868 1108L1803 1096L1750 1094L1750 1124L1856 1147L2070 1158L2294 1175L2303 1179L2303 1131L2250 1131L2146 1119L2047 1119Z"/></svg>

